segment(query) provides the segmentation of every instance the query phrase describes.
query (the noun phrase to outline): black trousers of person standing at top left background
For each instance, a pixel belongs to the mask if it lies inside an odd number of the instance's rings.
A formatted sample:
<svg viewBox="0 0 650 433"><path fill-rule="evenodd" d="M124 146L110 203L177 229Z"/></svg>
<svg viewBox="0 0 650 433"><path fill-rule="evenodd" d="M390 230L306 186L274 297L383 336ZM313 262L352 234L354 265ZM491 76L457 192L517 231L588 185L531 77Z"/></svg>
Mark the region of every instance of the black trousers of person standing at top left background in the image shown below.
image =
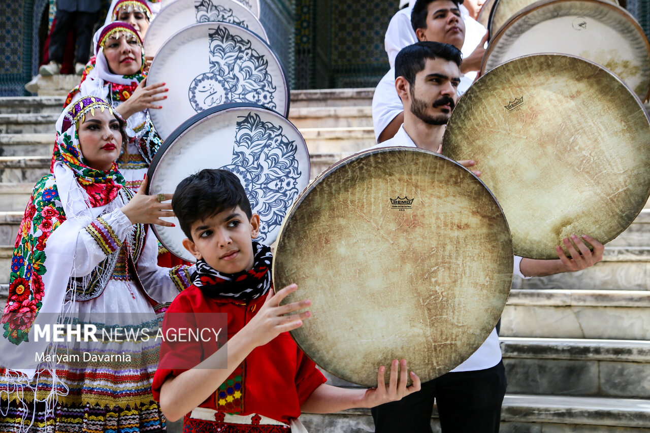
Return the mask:
<svg viewBox="0 0 650 433"><path fill-rule="evenodd" d="M90 44L92 43L92 29L97 21L97 12L67 12L57 10L54 29L49 38L49 60L57 63L63 62L63 50L70 29L77 33L75 47L75 62L86 64L90 57Z"/></svg>

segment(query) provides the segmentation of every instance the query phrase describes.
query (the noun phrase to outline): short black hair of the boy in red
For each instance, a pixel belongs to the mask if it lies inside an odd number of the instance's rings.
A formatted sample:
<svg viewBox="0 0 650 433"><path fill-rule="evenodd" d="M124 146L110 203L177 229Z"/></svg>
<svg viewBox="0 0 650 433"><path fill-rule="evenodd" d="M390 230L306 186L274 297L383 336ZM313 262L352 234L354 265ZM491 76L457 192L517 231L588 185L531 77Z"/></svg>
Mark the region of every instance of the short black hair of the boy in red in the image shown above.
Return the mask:
<svg viewBox="0 0 650 433"><path fill-rule="evenodd" d="M253 215L239 177L228 170L205 168L178 184L172 209L183 233L192 240L192 224L239 206L248 219Z"/></svg>

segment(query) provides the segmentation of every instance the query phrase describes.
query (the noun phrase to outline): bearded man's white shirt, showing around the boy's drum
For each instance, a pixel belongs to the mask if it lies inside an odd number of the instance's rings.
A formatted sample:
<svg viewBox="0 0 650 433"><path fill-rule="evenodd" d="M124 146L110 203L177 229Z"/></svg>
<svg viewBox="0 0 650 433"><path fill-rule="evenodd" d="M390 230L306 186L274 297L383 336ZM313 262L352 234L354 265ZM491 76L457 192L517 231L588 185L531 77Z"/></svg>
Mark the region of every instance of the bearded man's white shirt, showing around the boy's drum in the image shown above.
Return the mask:
<svg viewBox="0 0 650 433"><path fill-rule="evenodd" d="M407 148L417 148L415 142L411 140L411 137L404 131L404 125L400 126L400 129L395 134L395 137L390 140L386 140L383 143L376 144L370 149L378 148L389 148L393 146L402 146ZM515 256L513 266L513 274L518 275L522 278L526 278L520 269L521 257ZM470 356L467 360L461 365L458 365L452 372L458 373L459 371L476 371L489 369L494 367L501 360L501 348L499 346L499 335L497 335L497 330L493 329L492 332L487 337L486 341Z"/></svg>

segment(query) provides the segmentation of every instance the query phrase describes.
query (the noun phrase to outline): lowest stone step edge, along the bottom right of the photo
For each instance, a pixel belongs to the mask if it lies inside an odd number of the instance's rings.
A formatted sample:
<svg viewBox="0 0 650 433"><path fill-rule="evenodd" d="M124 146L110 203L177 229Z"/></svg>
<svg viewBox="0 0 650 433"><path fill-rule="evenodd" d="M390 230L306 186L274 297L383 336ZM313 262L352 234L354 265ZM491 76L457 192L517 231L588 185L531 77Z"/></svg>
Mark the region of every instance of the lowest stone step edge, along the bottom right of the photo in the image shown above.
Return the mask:
<svg viewBox="0 0 650 433"><path fill-rule="evenodd" d="M336 414L369 416L370 409L349 409ZM432 417L437 418L435 405ZM650 400L506 394L501 421L647 427L650 425Z"/></svg>

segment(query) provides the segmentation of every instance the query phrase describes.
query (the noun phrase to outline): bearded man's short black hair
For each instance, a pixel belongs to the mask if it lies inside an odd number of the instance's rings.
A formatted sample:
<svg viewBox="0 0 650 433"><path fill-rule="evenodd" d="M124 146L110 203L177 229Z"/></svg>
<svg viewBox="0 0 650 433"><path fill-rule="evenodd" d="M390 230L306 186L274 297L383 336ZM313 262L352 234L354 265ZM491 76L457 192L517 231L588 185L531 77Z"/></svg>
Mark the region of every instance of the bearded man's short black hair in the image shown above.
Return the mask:
<svg viewBox="0 0 650 433"><path fill-rule="evenodd" d="M409 85L415 83L415 75L424 69L427 59L445 59L454 62L460 68L463 55L460 49L440 42L420 41L406 46L395 57L395 78L404 77Z"/></svg>

